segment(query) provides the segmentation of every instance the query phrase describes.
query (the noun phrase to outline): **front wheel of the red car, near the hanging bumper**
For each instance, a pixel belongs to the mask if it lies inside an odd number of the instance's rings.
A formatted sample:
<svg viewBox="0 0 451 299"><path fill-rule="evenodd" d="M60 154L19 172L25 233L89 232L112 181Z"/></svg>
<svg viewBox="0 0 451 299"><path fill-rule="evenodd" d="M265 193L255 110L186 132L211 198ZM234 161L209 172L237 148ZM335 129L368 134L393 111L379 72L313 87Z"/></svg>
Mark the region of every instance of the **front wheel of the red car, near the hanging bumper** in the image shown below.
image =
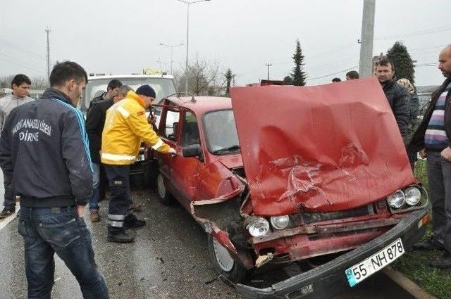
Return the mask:
<svg viewBox="0 0 451 299"><path fill-rule="evenodd" d="M249 273L247 269L230 255L227 249L211 234L208 235L208 244L210 260L218 274L223 275L234 284L246 278Z"/></svg>

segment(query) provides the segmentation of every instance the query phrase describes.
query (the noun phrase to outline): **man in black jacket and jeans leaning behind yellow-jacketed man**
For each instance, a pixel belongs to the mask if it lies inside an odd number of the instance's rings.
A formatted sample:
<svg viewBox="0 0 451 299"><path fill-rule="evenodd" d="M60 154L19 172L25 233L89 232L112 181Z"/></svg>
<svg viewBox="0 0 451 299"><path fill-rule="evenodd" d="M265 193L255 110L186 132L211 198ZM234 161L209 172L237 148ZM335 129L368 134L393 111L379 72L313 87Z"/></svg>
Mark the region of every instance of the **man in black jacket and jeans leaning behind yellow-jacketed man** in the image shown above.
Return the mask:
<svg viewBox="0 0 451 299"><path fill-rule="evenodd" d="M121 85L118 87L116 96L111 99L97 101L92 104L91 109L88 110L86 115L86 131L89 139L89 151L91 153L92 160L92 196L89 198L89 219L91 222L98 222L99 216L99 201L100 201L100 189L101 189L101 163L100 163L100 150L101 150L101 133L104 131L106 110L108 110L113 103L121 101L127 96L128 91L132 90L128 85Z"/></svg>

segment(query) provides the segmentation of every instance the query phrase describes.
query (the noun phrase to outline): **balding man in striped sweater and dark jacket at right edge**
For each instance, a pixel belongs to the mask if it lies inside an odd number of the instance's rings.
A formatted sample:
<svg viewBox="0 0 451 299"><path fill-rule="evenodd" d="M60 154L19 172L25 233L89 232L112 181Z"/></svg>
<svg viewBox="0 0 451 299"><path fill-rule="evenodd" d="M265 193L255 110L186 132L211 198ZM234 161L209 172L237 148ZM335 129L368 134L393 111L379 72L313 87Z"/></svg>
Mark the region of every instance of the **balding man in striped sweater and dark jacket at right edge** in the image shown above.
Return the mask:
<svg viewBox="0 0 451 299"><path fill-rule="evenodd" d="M443 250L443 256L431 262L433 267L451 268L451 45L440 51L438 69L445 82L434 91L428 110L412 136L409 149L428 157L429 195L432 203L433 236L416 243L415 249Z"/></svg>

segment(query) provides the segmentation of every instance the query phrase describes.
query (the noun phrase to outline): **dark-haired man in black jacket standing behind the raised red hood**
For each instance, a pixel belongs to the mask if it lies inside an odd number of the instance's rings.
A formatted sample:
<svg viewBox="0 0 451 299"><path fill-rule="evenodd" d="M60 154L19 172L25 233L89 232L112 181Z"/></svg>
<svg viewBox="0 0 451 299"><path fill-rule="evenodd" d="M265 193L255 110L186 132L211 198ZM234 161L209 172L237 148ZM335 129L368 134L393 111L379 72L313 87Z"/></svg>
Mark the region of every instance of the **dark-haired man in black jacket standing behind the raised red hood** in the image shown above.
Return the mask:
<svg viewBox="0 0 451 299"><path fill-rule="evenodd" d="M397 84L395 65L388 58L381 58L376 61L376 77L382 85L383 92L392 108L393 115L395 115L397 126L404 138L409 127L409 91Z"/></svg>

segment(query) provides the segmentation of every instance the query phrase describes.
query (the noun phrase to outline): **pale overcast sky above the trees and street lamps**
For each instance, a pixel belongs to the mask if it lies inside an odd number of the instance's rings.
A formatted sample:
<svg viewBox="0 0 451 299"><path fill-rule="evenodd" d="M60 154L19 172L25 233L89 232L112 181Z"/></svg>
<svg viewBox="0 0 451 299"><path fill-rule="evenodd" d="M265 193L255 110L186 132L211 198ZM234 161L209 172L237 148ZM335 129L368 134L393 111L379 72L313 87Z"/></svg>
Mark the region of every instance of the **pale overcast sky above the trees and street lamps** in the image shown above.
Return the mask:
<svg viewBox="0 0 451 299"><path fill-rule="evenodd" d="M190 58L196 54L236 74L236 84L291 72L295 40L305 56L307 84L344 79L358 70L363 0L211 0L190 5ZM87 72L130 74L169 70L163 44L186 43L187 5L177 0L1 0L0 76L46 75L46 32L51 62L72 60ZM377 0L374 55L397 40L419 65L416 84L443 82L438 52L451 43L449 0ZM185 65L174 48L174 68Z"/></svg>

